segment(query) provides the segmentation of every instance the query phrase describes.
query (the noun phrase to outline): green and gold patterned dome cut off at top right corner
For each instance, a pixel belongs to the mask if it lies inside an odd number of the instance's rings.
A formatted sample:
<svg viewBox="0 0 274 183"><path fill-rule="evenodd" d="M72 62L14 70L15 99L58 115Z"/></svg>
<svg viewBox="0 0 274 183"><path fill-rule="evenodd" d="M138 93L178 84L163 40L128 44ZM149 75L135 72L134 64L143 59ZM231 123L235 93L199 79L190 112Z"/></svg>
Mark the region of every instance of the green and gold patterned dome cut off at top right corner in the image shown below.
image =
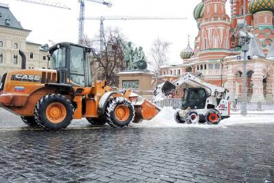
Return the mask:
<svg viewBox="0 0 274 183"><path fill-rule="evenodd" d="M252 14L260 11L274 12L274 0L251 0L249 1L249 11Z"/></svg>

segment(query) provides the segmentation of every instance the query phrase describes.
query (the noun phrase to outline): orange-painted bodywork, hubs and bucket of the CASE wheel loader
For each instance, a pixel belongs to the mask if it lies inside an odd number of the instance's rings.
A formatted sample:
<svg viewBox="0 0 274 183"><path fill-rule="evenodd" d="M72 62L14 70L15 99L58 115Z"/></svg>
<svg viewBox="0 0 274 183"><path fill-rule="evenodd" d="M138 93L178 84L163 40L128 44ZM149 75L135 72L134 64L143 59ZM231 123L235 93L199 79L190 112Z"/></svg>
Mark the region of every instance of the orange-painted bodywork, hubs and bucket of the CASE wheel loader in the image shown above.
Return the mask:
<svg viewBox="0 0 274 183"><path fill-rule="evenodd" d="M20 116L33 116L34 109L38 101L45 95L56 93L56 88L46 87L45 83L57 83L57 73L54 70L18 70L10 71L6 77L5 85L0 95L0 106L14 112ZM82 119L82 117L98 118L99 101L101 97L113 88L106 85L105 81L97 81L92 87L73 87L77 93L73 95L64 95L66 99L73 101L77 108L73 119ZM134 101L136 104L136 119L150 120L158 114L158 108L145 99L138 101L138 97L130 97L131 91L125 93L116 93L112 97L125 97ZM138 103L138 104L137 104ZM134 103L133 103L134 104ZM49 117L55 120L56 111L62 108L54 107L47 112ZM56 114L55 114L56 113ZM123 119L122 113L127 113L125 108L117 110L117 117ZM125 115L127 116L127 115Z"/></svg>

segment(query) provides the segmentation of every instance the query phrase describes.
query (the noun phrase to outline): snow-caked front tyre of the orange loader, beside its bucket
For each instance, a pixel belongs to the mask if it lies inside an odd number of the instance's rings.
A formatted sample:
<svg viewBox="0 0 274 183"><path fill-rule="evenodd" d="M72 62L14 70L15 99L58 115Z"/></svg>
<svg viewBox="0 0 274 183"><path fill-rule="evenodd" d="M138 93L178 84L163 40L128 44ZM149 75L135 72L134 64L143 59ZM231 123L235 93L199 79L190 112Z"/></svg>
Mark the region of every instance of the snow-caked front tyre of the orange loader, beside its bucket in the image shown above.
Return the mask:
<svg viewBox="0 0 274 183"><path fill-rule="evenodd" d="M123 121L120 121L116 117L116 110L119 107L123 107L128 110L129 114L126 119L123 119ZM108 119L108 124L112 127L127 127L129 123L131 123L134 120L135 117L135 110L134 106L132 106L132 103L123 97L117 97L108 102L108 105L105 109L105 114Z"/></svg>

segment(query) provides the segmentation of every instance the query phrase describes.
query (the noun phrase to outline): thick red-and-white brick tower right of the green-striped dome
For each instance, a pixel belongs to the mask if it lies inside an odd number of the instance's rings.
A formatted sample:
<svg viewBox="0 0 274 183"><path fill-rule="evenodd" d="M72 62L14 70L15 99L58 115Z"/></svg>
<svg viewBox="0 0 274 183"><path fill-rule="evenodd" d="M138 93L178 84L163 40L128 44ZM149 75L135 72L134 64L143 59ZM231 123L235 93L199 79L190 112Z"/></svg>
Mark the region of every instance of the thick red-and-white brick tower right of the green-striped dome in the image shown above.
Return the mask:
<svg viewBox="0 0 274 183"><path fill-rule="evenodd" d="M230 18L225 12L226 0L203 0L200 20L199 60L221 60L230 52Z"/></svg>

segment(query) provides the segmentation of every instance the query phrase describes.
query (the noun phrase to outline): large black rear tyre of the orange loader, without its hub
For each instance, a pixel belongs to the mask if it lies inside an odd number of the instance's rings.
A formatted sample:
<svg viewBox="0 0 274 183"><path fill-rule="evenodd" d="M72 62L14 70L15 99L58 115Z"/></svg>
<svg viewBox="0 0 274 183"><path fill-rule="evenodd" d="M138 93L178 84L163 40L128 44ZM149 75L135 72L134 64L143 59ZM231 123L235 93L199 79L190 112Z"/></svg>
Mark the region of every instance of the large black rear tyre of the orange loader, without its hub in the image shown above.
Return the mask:
<svg viewBox="0 0 274 183"><path fill-rule="evenodd" d="M61 114L60 121L58 122L53 122L52 119L48 118L49 115L47 115L47 108L55 103L64 108L66 112L64 115ZM34 110L34 118L45 130L63 130L73 120L73 113L71 101L62 95L50 94L42 97L42 99L38 101Z"/></svg>

